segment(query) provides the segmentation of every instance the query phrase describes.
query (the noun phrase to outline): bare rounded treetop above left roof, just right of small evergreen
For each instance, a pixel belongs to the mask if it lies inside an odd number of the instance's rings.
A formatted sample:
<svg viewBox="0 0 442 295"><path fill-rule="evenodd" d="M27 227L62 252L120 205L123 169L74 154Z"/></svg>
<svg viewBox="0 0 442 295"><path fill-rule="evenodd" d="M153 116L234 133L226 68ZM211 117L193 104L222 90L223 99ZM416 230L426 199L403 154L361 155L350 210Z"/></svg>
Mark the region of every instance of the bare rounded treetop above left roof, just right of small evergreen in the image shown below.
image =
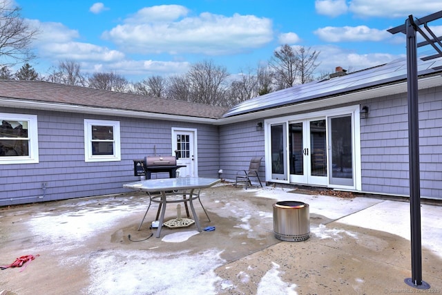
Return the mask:
<svg viewBox="0 0 442 295"><path fill-rule="evenodd" d="M86 78L81 74L80 64L69 59L60 61L58 68L46 79L60 84L86 86Z"/></svg>

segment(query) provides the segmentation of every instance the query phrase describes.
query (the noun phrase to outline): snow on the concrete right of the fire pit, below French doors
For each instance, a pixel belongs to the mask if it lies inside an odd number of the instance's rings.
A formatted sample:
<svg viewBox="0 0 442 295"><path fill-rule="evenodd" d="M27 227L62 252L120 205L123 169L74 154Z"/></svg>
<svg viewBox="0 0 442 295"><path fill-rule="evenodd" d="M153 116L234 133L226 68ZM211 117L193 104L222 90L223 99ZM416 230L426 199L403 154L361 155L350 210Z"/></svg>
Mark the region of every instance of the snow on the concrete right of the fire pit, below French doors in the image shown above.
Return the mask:
<svg viewBox="0 0 442 295"><path fill-rule="evenodd" d="M291 189L256 189L257 196L274 198L276 201L297 200L309 204L309 211L337 222L384 231L410 240L410 202L356 197L354 199L333 196L315 196L289 193ZM421 243L442 257L442 207L421 204ZM340 238L340 229L311 226L312 234L320 238ZM354 233L345 231L352 236Z"/></svg>

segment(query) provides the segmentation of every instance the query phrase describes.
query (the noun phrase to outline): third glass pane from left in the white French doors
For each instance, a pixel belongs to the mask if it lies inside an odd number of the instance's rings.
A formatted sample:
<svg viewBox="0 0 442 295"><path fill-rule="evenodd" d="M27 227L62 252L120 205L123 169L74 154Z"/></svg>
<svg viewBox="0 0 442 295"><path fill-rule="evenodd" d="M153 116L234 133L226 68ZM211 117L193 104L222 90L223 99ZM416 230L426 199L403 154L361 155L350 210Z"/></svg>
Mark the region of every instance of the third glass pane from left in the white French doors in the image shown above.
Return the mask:
<svg viewBox="0 0 442 295"><path fill-rule="evenodd" d="M325 120L310 122L310 166L311 175L327 176L327 142Z"/></svg>

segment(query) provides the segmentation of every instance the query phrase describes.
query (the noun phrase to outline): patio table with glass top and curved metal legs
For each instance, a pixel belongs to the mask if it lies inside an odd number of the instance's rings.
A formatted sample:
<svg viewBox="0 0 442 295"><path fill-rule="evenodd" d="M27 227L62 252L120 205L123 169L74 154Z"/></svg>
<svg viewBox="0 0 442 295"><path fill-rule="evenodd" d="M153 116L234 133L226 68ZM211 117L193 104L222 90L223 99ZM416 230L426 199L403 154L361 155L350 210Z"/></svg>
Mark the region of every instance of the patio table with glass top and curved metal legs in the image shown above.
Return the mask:
<svg viewBox="0 0 442 295"><path fill-rule="evenodd" d="M150 180L142 180L137 182L131 182L128 184L124 184L123 187L126 189L133 189L136 191L146 191L149 195L149 205L144 213L143 220L140 224L140 227L146 218L146 214L148 209L151 207L151 202L157 202L161 207L160 220L158 223L157 234L156 237L160 238L161 228L164 222L164 213L166 212L166 204L174 203L174 202L189 202L191 211L193 214L193 218L195 220L195 225L198 231L201 231L200 221L198 220L198 216L195 213L195 208L193 207L193 200L195 198L199 198L198 195L194 195L193 191L195 189L205 189L208 187L213 187L213 185L221 182L218 178L199 178L199 177L186 177L186 178L160 178L160 179L150 179ZM170 198L171 195L177 195L175 193L169 193L173 191L187 191L189 190L189 196L184 193L183 198ZM157 195L151 195L151 193L159 193ZM138 230L140 230L138 227Z"/></svg>

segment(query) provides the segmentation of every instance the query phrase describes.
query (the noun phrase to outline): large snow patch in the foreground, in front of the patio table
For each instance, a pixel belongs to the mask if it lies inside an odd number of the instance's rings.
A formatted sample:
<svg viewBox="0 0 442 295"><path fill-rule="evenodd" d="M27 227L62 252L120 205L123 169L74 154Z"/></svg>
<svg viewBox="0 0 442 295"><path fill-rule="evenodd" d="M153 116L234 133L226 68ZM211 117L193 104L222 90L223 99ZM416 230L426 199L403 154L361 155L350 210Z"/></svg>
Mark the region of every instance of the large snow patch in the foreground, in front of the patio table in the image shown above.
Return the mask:
<svg viewBox="0 0 442 295"><path fill-rule="evenodd" d="M104 251L90 261L92 282L84 291L97 295L215 294L220 278L213 269L225 263L220 254L182 251L158 257L152 251Z"/></svg>

